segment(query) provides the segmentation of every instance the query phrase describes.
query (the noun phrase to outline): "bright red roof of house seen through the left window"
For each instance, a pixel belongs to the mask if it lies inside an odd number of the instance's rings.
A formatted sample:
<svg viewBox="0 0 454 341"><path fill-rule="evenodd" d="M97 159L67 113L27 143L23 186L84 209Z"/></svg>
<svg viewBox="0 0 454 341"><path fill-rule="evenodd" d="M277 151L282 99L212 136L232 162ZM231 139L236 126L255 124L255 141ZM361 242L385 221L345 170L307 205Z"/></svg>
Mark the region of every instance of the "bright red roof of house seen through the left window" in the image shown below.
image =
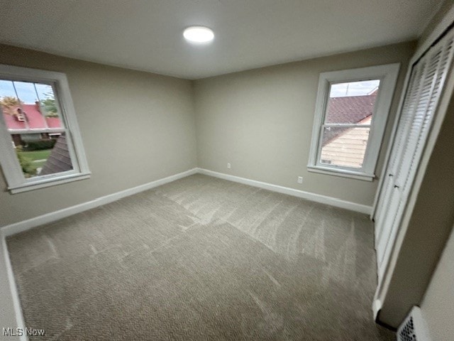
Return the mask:
<svg viewBox="0 0 454 341"><path fill-rule="evenodd" d="M26 120L28 122L28 128L25 121L18 121L16 112L18 109L22 109L23 113L26 114ZM9 107L4 109L3 117L6 122L6 126L10 130L17 129L46 129L46 128L60 128L60 118L58 117L44 117L40 113L37 104L22 104L22 106Z"/></svg>

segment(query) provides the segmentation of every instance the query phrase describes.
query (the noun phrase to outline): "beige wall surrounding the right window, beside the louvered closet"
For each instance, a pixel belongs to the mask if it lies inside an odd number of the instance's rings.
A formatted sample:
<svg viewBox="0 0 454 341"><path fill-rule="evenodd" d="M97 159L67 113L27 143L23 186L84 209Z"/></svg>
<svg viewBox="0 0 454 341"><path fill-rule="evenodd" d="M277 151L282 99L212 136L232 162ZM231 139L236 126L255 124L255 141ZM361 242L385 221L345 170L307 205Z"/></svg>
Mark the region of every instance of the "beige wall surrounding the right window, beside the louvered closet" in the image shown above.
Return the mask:
<svg viewBox="0 0 454 341"><path fill-rule="evenodd" d="M377 180L309 173L309 146L320 72L401 63L394 120L415 43L401 43L195 81L201 168L372 205ZM382 146L380 176L391 124ZM227 163L231 169L227 169ZM297 177L303 176L301 185Z"/></svg>

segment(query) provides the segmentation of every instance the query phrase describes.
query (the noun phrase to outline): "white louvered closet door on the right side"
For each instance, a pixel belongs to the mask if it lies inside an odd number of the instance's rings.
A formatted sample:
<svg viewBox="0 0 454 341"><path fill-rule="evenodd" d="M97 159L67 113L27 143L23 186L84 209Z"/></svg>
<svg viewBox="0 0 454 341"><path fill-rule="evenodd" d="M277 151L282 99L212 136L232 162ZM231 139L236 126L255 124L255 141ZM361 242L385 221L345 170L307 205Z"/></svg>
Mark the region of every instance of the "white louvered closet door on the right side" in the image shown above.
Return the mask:
<svg viewBox="0 0 454 341"><path fill-rule="evenodd" d="M454 32L451 31L428 50L411 70L375 215L379 278L382 278L394 244L453 53Z"/></svg>

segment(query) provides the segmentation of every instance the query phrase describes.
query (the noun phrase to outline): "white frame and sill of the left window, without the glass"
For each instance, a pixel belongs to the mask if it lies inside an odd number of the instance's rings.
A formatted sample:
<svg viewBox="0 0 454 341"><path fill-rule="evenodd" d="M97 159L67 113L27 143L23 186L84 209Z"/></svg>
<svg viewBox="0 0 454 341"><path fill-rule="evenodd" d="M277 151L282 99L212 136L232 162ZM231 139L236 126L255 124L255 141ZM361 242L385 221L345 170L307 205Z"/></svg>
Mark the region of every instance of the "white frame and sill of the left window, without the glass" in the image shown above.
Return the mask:
<svg viewBox="0 0 454 341"><path fill-rule="evenodd" d="M16 151L14 148L11 148L11 131L9 131L6 126L3 112L0 108L0 165L10 193L22 193L28 190L35 190L89 178L91 173L82 144L82 136L79 131L79 124L77 124L77 117L66 75L62 72L0 65L0 79L19 82L39 82L52 86L57 107L60 109L60 119L64 126L62 129L53 130L65 131L73 168L71 171L41 175L35 178L25 178L16 156ZM42 130L43 129L33 129L33 134L40 134L43 132ZM48 130L49 131L45 132L52 133L52 129ZM17 134L23 134L24 132L25 131L18 129ZM31 131L27 131L27 133L30 132Z"/></svg>

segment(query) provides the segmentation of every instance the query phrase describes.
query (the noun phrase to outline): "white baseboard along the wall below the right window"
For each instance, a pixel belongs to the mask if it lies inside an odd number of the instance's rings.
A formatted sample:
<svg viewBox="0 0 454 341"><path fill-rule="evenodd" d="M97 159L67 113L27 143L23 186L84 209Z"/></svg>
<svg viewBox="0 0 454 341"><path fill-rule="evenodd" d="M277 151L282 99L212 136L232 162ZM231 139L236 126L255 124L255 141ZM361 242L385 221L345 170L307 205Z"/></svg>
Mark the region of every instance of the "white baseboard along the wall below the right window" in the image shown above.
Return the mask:
<svg viewBox="0 0 454 341"><path fill-rule="evenodd" d="M365 213L367 215L370 215L370 212L372 212L372 206L361 205L361 204L357 204L355 202L337 199L336 197L328 197L326 195L305 192L304 190L295 190L294 188L273 185L272 183L262 183L261 181L250 180L250 179L246 179L246 178L240 178L239 176L235 176L235 175L209 171L208 169L204 169L204 168L198 168L198 173L205 174L205 175L211 175L216 178L221 178L224 180L234 181L236 183L243 183L245 185L250 185L253 187L263 188L265 190L272 190L273 192L283 193L283 194L287 194L287 195L293 195L294 197L301 197L303 199L320 202L321 204L341 207L341 208L345 208L346 210L361 212L361 213Z"/></svg>

